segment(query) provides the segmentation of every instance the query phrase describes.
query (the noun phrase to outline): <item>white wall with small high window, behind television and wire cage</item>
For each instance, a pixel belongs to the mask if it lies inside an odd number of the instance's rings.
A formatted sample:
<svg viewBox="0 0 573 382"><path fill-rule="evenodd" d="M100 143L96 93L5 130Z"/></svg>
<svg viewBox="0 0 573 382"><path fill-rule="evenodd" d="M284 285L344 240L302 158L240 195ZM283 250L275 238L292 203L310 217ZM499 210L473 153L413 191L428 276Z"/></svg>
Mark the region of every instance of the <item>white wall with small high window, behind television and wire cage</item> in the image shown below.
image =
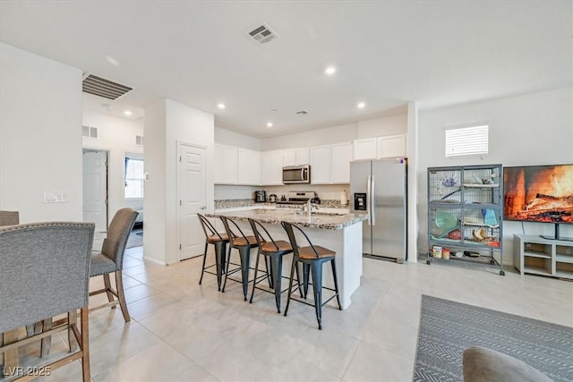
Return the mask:
<svg viewBox="0 0 573 382"><path fill-rule="evenodd" d="M426 170L432 166L502 164L503 166L573 163L573 98L571 89L422 111L419 114L420 195L427 195ZM490 149L484 157L446 158L444 127L467 123L490 125ZM427 201L420 198L419 247L427 250ZM553 225L503 222L504 262L512 261L513 234L551 234ZM573 225L561 234L573 236Z"/></svg>

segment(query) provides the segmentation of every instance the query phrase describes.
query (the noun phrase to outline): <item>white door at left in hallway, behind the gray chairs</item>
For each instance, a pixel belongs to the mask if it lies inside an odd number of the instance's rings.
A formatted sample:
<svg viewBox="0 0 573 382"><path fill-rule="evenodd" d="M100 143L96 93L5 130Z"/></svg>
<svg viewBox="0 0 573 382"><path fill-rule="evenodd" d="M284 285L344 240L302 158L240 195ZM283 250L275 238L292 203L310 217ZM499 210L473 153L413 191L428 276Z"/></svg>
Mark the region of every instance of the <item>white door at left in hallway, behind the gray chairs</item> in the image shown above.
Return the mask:
<svg viewBox="0 0 573 382"><path fill-rule="evenodd" d="M93 250L107 235L107 151L83 151L83 221L96 224Z"/></svg>

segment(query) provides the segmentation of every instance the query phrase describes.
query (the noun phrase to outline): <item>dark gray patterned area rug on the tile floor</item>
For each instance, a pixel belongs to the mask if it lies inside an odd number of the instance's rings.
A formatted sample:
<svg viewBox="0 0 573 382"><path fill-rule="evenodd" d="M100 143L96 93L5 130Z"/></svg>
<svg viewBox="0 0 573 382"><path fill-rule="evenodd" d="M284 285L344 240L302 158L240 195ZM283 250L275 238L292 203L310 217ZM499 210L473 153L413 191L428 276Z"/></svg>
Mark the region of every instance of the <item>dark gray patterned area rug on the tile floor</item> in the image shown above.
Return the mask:
<svg viewBox="0 0 573 382"><path fill-rule="evenodd" d="M472 345L573 381L573 327L423 295L414 380L462 381L463 352Z"/></svg>

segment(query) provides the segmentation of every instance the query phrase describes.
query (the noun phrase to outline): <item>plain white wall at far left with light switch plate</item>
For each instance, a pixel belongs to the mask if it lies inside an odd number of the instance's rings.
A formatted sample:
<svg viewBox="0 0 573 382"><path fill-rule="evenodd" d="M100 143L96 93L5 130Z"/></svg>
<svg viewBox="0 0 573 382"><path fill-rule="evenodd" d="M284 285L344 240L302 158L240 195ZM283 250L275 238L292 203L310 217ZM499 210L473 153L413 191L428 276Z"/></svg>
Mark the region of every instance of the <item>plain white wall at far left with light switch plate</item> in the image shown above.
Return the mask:
<svg viewBox="0 0 573 382"><path fill-rule="evenodd" d="M81 221L81 70L0 43L0 78L0 208Z"/></svg>

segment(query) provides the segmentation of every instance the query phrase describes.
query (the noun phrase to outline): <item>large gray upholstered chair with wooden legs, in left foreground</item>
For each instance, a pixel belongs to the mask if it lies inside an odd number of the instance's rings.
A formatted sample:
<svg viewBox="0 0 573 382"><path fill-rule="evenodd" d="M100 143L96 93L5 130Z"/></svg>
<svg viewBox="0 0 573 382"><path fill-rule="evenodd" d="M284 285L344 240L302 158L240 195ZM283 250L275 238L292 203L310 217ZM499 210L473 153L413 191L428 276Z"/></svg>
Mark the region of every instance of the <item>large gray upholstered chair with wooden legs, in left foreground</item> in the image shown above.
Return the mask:
<svg viewBox="0 0 573 382"><path fill-rule="evenodd" d="M10 336L0 346L4 374L33 372L32 367L17 368L18 347L67 330L70 345L77 341L80 350L38 365L57 369L81 359L83 381L90 381L88 293L94 229L91 223L68 222L0 227L0 333L4 339L6 334ZM77 310L81 310L81 327ZM21 327L64 313L67 319L37 335L22 339L14 335ZM27 360L26 366L31 361Z"/></svg>

